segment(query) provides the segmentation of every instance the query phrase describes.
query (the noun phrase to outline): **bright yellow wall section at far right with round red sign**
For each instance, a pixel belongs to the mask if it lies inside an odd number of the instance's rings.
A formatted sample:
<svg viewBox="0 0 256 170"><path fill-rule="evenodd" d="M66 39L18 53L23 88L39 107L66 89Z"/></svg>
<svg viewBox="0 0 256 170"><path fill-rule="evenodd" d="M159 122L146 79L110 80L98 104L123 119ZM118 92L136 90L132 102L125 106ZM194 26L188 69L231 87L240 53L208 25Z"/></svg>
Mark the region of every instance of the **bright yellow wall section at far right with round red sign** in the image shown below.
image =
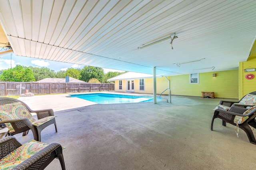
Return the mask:
<svg viewBox="0 0 256 170"><path fill-rule="evenodd" d="M249 57L247 61L239 63L239 99L256 91L256 71L245 72L244 69L248 68L256 68L256 57ZM254 79L246 79L248 74L253 74Z"/></svg>

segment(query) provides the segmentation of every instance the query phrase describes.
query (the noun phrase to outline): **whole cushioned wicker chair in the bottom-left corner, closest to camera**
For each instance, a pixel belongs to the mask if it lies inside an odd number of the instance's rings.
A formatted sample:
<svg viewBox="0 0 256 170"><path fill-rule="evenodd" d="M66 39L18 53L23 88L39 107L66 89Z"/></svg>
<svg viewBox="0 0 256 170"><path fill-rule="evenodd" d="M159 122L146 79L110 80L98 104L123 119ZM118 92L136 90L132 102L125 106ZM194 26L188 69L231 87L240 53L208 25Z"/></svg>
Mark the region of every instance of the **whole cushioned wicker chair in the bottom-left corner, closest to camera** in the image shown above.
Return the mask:
<svg viewBox="0 0 256 170"><path fill-rule="evenodd" d="M20 144L14 136L0 139L0 169L43 170L54 158L60 160L65 170L62 146L30 140Z"/></svg>

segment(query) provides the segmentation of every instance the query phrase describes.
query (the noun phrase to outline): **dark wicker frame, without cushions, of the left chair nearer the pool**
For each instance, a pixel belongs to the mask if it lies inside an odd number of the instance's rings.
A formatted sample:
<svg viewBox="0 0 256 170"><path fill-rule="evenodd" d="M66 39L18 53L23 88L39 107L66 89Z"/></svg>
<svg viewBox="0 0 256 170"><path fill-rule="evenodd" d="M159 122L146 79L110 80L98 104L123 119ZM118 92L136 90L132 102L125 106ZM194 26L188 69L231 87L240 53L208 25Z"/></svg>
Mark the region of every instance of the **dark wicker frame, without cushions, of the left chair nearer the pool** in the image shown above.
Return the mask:
<svg viewBox="0 0 256 170"><path fill-rule="evenodd" d="M28 109L30 113L36 113L38 120L49 117L49 116L54 116L54 112L52 109L33 111L28 107L28 105L26 105L26 103L18 99L0 97L0 105L16 103L16 102L21 102L26 107L26 109ZM6 121L4 121L4 123L6 123ZM37 141L41 141L41 131L51 124L55 125L55 130L56 132L58 132L55 118L53 118L50 121L47 121L46 123L40 126L34 126L28 119L13 119L13 120L9 120L8 123L10 123L15 130L15 132L10 132L9 133L10 135L23 132L23 136L25 136L26 134L28 134L28 130L31 130L34 135L34 140L37 140Z"/></svg>

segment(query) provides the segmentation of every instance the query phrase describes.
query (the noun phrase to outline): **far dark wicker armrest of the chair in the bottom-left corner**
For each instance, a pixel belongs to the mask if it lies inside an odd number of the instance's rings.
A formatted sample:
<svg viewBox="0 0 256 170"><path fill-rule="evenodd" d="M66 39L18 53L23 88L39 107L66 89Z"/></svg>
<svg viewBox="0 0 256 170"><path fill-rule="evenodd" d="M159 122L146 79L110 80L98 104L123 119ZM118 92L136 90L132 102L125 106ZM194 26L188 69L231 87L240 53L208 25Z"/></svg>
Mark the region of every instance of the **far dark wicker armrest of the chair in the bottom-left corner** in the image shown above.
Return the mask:
<svg viewBox="0 0 256 170"><path fill-rule="evenodd" d="M22 144L14 136L6 136L0 139L0 159L20 147Z"/></svg>

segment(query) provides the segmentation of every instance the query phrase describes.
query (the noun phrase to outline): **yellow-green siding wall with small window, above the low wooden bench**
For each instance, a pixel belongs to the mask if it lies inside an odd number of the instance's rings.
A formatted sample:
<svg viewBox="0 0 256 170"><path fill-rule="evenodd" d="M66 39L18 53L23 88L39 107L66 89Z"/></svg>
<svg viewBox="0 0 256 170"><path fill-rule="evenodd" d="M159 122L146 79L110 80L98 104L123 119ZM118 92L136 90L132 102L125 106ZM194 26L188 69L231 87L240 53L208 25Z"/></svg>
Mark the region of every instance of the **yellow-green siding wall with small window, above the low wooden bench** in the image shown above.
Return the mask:
<svg viewBox="0 0 256 170"><path fill-rule="evenodd" d="M212 74L216 73L216 77ZM217 98L238 99L238 70L199 73L199 84L189 83L189 74L171 76L172 95L201 96L214 92Z"/></svg>

